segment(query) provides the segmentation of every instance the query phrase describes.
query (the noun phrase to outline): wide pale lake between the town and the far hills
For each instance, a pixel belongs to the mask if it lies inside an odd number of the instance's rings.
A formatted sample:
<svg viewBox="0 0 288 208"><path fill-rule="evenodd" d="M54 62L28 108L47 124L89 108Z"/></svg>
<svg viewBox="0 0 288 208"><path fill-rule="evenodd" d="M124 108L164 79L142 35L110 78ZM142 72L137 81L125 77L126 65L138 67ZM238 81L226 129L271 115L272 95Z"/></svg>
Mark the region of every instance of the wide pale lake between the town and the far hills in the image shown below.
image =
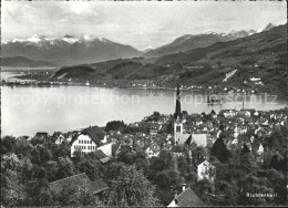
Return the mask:
<svg viewBox="0 0 288 208"><path fill-rule="evenodd" d="M3 74L4 72L2 72ZM10 72L7 72L10 73ZM10 74L11 75L11 74ZM6 74L6 77L9 76ZM3 76L2 76L3 77ZM68 132L90 125L104 126L113 119L132 123L154 111L173 114L174 90L101 89L89 86L1 87L1 136L29 135L37 132ZM281 97L267 95L222 95L222 105L208 105L203 92L182 91L182 110L210 113L226 108L258 111L287 106Z"/></svg>

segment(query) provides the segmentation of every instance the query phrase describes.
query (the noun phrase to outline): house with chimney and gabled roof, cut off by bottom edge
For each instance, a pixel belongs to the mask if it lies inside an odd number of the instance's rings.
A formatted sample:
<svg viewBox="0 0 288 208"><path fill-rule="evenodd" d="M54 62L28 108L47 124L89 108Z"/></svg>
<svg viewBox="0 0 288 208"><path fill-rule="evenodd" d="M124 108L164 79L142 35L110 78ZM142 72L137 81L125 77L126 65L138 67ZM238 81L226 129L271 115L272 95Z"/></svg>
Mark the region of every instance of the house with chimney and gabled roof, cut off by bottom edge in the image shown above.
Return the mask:
<svg viewBox="0 0 288 208"><path fill-rule="evenodd" d="M174 199L167 207L198 207L204 206L204 202L191 189L191 187L183 187L183 191L179 195L175 195Z"/></svg>

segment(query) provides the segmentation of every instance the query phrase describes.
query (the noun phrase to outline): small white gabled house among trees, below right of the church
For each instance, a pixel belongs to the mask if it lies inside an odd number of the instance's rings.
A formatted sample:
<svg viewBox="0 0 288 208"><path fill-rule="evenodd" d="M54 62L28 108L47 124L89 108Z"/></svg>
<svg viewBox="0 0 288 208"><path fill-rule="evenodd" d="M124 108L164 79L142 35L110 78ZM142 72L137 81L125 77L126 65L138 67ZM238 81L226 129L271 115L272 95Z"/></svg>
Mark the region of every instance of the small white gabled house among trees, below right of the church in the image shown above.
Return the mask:
<svg viewBox="0 0 288 208"><path fill-rule="evenodd" d="M207 179L210 183L215 181L216 168L215 166L205 159L197 166L198 180Z"/></svg>

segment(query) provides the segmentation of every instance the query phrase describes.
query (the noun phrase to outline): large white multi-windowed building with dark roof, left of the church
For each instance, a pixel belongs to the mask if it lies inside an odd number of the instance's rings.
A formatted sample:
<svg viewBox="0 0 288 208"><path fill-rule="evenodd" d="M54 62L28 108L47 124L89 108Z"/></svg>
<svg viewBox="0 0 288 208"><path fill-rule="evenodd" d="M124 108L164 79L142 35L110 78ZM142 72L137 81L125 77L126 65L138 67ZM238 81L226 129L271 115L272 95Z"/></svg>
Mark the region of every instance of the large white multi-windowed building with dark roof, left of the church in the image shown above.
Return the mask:
<svg viewBox="0 0 288 208"><path fill-rule="evenodd" d="M72 142L71 157L74 156L75 152L91 153L97 149L112 156L112 143L107 142L105 132L97 126L89 127Z"/></svg>

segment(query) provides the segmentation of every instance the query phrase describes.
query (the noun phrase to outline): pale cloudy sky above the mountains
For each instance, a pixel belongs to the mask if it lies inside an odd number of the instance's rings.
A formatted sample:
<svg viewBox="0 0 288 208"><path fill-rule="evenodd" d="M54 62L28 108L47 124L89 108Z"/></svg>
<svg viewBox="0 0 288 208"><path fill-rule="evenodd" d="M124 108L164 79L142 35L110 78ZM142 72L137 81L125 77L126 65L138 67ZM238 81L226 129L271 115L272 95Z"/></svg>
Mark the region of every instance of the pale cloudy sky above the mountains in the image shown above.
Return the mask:
<svg viewBox="0 0 288 208"><path fill-rule="evenodd" d="M286 1L2 1L1 38L92 34L138 50L184 34L287 22Z"/></svg>

